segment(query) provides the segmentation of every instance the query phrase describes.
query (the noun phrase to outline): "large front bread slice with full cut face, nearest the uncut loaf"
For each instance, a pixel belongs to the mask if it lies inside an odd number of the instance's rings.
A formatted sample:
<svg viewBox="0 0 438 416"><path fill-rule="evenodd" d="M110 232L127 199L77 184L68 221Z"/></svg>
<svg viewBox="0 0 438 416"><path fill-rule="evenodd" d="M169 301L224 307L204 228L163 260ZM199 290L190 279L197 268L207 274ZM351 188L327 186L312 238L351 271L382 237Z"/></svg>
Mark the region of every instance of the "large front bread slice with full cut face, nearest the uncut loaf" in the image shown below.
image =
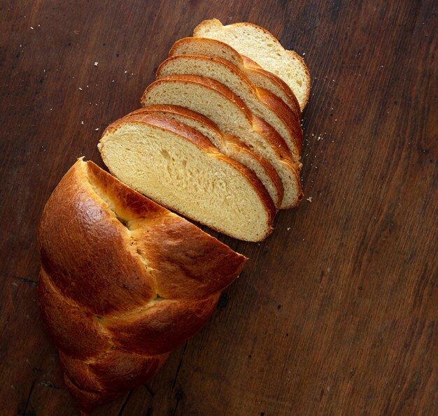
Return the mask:
<svg viewBox="0 0 438 416"><path fill-rule="evenodd" d="M255 173L185 124L121 118L104 131L99 151L122 182L192 220L245 241L271 233L276 209Z"/></svg>

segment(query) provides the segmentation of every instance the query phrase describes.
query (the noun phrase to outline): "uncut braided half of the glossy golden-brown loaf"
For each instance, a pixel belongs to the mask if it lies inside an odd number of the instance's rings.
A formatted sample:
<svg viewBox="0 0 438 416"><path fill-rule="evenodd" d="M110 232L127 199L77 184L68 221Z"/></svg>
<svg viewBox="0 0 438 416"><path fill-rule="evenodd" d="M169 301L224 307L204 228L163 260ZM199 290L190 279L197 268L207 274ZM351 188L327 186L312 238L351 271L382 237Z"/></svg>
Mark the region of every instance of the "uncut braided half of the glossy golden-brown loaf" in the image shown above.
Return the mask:
<svg viewBox="0 0 438 416"><path fill-rule="evenodd" d="M146 382L246 258L79 159L39 228L38 301L83 411Z"/></svg>

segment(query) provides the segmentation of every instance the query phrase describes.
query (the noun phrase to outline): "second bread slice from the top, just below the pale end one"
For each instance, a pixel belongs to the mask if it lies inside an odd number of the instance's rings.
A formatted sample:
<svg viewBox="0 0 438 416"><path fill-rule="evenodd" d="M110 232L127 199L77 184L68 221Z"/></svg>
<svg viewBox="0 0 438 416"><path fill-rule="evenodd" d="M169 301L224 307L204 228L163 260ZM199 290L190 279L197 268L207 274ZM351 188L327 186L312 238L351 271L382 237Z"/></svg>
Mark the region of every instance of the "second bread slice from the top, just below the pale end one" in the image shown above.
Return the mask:
<svg viewBox="0 0 438 416"><path fill-rule="evenodd" d="M174 43L169 52L169 57L175 55L204 55L225 59L243 71L255 87L275 94L298 118L301 117L301 108L289 85L273 73L262 69L252 59L240 55L227 43L209 38L182 38Z"/></svg>

